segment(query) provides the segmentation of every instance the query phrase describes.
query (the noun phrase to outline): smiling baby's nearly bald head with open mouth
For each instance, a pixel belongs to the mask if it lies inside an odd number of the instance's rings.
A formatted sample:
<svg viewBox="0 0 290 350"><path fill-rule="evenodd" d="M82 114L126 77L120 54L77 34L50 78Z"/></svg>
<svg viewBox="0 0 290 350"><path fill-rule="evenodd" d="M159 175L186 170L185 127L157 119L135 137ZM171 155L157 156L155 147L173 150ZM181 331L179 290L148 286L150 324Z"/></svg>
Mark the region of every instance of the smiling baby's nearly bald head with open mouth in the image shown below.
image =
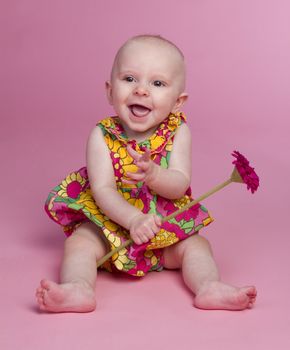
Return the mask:
<svg viewBox="0 0 290 350"><path fill-rule="evenodd" d="M185 69L180 53L157 40L133 40L117 56L109 102L126 131L153 130L171 112L177 112L187 95L183 92Z"/></svg>

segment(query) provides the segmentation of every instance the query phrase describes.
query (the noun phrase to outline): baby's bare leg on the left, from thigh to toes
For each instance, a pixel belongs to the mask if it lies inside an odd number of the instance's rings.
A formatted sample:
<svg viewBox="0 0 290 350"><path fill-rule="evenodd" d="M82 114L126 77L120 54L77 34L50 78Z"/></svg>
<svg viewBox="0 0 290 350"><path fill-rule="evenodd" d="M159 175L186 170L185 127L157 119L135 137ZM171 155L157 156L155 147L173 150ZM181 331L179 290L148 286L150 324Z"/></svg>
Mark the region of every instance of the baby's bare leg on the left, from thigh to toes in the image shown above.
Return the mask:
<svg viewBox="0 0 290 350"><path fill-rule="evenodd" d="M96 225L85 223L66 239L60 283L42 280L36 290L41 310L89 312L96 308L96 261L108 251Z"/></svg>

